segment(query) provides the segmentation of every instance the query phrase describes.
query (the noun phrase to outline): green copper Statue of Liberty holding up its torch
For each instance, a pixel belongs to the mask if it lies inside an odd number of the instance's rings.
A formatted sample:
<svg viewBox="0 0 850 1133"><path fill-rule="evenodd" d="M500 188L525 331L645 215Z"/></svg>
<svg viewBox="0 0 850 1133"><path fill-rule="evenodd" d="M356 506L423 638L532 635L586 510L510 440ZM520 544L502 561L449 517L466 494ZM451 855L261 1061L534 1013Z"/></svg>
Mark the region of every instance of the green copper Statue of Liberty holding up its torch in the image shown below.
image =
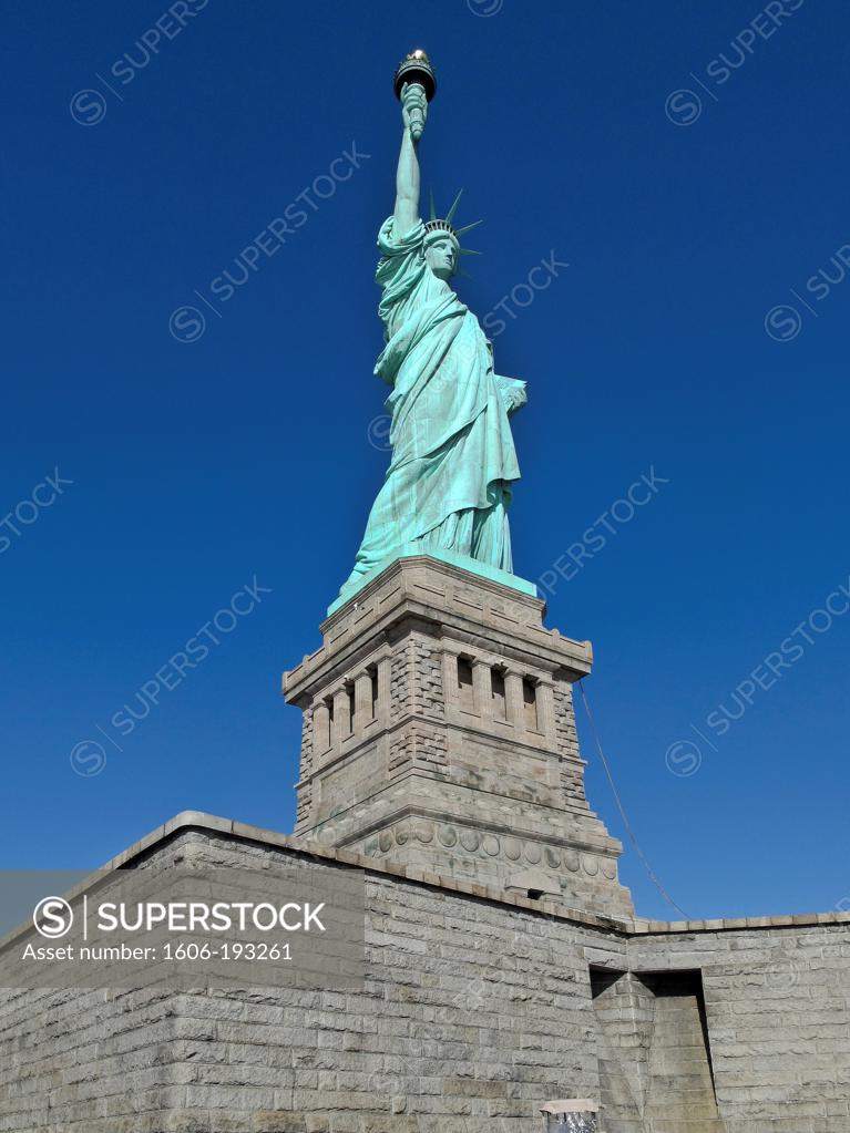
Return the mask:
<svg viewBox="0 0 850 1133"><path fill-rule="evenodd" d="M385 341L375 374L392 389L392 459L343 597L408 544L513 570L508 506L519 465L508 417L526 403L525 382L494 373L491 343L449 284L466 252L459 238L475 227L452 227L459 195L444 220L433 197L431 219L420 215L417 146L435 86L425 53L408 56L398 77L396 207L381 225L375 276Z"/></svg>

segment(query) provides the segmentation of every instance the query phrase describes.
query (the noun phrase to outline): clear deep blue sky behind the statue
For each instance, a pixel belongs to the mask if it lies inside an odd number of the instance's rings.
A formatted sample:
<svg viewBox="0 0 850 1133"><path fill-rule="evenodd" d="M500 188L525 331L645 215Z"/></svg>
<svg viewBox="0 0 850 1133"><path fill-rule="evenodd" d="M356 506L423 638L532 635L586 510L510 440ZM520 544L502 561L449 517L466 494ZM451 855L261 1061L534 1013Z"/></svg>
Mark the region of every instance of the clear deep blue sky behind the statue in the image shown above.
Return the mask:
<svg viewBox="0 0 850 1133"><path fill-rule="evenodd" d="M847 6L171 7L5 8L1 863L92 866L185 808L291 828L280 673L318 645L388 461L374 240L392 71L424 45L425 184L486 219L460 293L483 317L520 286L495 342L529 384L517 569L571 576L547 621L594 642L645 851L695 917L850 897L850 616L832 599L787 640L850 577ZM358 168L332 165L352 144ZM185 305L196 341L169 331ZM57 468L73 484L43 486ZM606 530L651 469L669 483ZM110 725L254 579L272 593L130 734ZM100 774L71 766L86 740ZM668 915L629 850L621 876Z"/></svg>

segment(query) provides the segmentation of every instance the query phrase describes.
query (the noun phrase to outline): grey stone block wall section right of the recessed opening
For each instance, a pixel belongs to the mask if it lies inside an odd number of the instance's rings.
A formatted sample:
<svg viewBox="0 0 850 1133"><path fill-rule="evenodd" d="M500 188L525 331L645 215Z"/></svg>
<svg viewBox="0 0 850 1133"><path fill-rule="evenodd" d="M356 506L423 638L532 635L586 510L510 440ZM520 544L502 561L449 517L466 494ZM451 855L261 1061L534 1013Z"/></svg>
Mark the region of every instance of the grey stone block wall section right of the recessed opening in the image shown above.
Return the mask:
<svg viewBox="0 0 850 1133"><path fill-rule="evenodd" d="M629 966L700 973L726 1133L850 1131L850 925L841 914L673 925L631 937Z"/></svg>

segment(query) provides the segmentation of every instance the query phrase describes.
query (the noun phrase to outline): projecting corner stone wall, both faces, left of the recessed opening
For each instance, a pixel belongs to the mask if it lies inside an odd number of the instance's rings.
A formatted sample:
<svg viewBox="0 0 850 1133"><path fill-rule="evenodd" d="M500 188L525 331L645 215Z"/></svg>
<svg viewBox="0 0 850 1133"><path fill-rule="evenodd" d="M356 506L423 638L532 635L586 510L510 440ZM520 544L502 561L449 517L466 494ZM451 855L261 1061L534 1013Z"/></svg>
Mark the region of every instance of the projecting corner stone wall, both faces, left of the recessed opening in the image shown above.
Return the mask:
<svg viewBox="0 0 850 1133"><path fill-rule="evenodd" d="M135 852L375 866L204 821ZM391 867L367 871L366 902L354 990L0 991L0 1130L525 1133L546 1100L598 1093L586 948L622 951L615 929Z"/></svg>

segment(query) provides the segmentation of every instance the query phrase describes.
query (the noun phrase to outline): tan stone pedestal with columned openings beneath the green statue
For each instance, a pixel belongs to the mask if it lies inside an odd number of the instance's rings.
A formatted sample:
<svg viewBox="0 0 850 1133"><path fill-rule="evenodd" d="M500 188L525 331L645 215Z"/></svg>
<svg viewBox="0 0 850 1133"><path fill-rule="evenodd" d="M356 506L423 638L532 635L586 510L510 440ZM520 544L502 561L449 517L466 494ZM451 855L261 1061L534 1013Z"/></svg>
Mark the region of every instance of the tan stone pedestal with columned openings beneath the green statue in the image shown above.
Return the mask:
<svg viewBox="0 0 850 1133"><path fill-rule="evenodd" d="M585 798L572 683L590 645L544 611L425 555L337 608L283 681L304 713L296 836L630 915L621 845Z"/></svg>

